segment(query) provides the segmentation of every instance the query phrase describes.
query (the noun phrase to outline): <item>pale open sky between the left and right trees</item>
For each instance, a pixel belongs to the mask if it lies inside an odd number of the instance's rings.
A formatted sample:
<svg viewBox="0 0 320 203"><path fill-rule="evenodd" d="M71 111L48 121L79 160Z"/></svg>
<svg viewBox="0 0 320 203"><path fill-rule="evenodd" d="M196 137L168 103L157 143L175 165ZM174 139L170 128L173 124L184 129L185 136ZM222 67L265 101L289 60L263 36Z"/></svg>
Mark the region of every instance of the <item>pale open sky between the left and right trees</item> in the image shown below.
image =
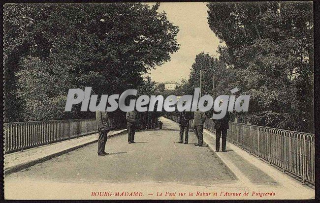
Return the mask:
<svg viewBox="0 0 320 203"><path fill-rule="evenodd" d="M152 3L150 3L152 4ZM165 11L167 19L179 27L177 35L180 49L171 60L149 71L155 82L180 82L188 79L194 58L201 52L217 56L219 39L209 28L207 2L162 2L159 12Z"/></svg>

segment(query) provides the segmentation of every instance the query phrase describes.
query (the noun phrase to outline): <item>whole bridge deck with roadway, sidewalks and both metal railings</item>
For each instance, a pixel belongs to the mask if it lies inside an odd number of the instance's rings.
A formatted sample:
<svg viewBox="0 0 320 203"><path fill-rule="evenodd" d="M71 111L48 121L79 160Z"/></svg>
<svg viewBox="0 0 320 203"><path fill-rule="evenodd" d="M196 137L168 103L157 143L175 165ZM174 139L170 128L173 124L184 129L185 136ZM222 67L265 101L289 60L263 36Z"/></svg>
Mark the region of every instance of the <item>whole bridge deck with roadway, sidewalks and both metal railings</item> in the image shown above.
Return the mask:
<svg viewBox="0 0 320 203"><path fill-rule="evenodd" d="M107 189L112 199L130 199L115 195L124 188L143 191L139 199L190 199L173 191L194 188L191 199L315 196L314 134L230 122L227 152L216 153L212 120L205 122L208 147L197 147L192 121L189 144L178 143L177 119L161 117L162 129L136 132L134 145L111 119L110 155L103 157L96 155L95 119L5 123L5 198L110 199L93 193ZM239 191L250 194L235 197Z"/></svg>

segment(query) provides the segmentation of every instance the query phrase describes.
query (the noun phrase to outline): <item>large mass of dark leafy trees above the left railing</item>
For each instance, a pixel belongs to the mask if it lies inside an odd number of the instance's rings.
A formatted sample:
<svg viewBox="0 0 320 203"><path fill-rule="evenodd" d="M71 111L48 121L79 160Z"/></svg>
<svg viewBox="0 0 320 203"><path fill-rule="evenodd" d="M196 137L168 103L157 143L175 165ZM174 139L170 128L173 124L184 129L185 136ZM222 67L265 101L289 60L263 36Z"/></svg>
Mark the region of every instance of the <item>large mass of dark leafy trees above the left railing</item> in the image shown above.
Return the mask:
<svg viewBox="0 0 320 203"><path fill-rule="evenodd" d="M179 29L157 11L159 5L6 4L6 122L92 116L80 113L79 106L76 114L62 113L68 88L121 94L141 86L142 74L179 49ZM60 87L50 88L53 84ZM46 111L51 116L39 115Z"/></svg>

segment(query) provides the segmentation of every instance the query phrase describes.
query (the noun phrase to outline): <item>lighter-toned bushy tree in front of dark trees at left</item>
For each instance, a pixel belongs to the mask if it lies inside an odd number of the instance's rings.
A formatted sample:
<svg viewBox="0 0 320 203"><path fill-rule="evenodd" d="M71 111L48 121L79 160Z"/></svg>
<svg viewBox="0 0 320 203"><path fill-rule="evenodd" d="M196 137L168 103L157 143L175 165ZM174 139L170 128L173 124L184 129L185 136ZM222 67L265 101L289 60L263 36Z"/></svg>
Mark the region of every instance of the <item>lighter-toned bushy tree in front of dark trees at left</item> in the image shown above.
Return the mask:
<svg viewBox="0 0 320 203"><path fill-rule="evenodd" d="M52 67L40 58L24 58L22 69L16 72L18 84L16 96L23 101L19 116L37 120L61 119L65 116L65 89L70 87L68 74L60 66Z"/></svg>

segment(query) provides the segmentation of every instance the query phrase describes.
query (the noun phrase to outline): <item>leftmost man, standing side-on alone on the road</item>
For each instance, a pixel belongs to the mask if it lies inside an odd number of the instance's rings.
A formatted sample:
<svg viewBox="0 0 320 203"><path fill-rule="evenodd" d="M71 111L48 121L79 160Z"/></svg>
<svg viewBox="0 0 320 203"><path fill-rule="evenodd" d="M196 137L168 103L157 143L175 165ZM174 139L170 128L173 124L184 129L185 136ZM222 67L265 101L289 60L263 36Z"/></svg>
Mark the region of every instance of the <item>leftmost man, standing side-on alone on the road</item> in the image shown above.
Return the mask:
<svg viewBox="0 0 320 203"><path fill-rule="evenodd" d="M104 151L105 144L108 139L107 134L110 131L109 117L106 111L103 111L103 112L96 111L96 124L97 124L97 130L99 133L98 156L104 156L109 154Z"/></svg>

